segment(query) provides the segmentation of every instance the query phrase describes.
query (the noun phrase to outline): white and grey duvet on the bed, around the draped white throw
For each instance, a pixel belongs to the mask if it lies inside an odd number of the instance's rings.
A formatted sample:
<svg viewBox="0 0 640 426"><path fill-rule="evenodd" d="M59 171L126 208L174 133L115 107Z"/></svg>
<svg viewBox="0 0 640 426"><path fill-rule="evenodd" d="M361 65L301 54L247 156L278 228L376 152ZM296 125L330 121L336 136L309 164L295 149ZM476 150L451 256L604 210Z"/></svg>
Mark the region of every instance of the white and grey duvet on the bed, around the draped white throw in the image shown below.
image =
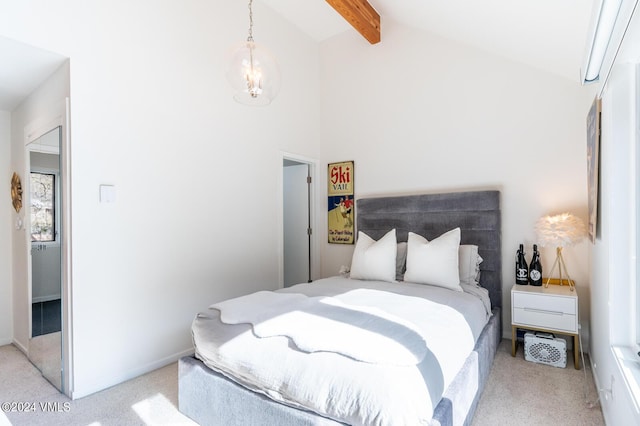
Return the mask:
<svg viewBox="0 0 640 426"><path fill-rule="evenodd" d="M429 424L433 408L487 322L484 303L473 294L439 287L342 277L278 293L338 297L358 305L362 294L356 290L360 288L393 295L373 307L412 323L420 331L427 344L420 363L376 364L328 351L307 353L288 337L257 337L251 324L224 324L215 308L198 314L193 322L196 356L249 389L338 421L354 425ZM439 304L434 306L433 301Z"/></svg>

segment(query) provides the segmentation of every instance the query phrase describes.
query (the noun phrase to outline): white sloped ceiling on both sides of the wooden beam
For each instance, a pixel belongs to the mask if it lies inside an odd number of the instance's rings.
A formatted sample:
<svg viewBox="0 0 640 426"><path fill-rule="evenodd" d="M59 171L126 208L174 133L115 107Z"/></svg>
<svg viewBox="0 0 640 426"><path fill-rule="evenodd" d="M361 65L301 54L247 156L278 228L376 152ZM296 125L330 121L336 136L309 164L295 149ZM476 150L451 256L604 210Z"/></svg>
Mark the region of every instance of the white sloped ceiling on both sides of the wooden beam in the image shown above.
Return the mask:
<svg viewBox="0 0 640 426"><path fill-rule="evenodd" d="M256 0L315 40L356 31L329 3L365 0ZM417 28L579 81L593 1L366 0L385 22ZM366 43L363 40L363 43ZM364 48L364 47L363 47Z"/></svg>

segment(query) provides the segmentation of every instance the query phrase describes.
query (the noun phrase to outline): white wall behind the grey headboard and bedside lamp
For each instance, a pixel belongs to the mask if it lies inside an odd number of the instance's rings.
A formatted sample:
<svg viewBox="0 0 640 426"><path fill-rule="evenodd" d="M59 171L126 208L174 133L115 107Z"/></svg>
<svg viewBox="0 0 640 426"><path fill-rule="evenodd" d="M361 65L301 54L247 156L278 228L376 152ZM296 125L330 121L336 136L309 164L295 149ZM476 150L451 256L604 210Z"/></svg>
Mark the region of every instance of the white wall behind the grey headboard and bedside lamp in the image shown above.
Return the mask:
<svg viewBox="0 0 640 426"><path fill-rule="evenodd" d="M539 217L570 211L587 219L588 98L577 81L389 20L383 30L378 45L346 33L321 46L322 158L355 160L356 198L499 189L503 331L510 336L518 244L530 260ZM348 265L352 250L325 244L323 274ZM564 254L586 336L587 243ZM541 255L549 271L555 249Z"/></svg>

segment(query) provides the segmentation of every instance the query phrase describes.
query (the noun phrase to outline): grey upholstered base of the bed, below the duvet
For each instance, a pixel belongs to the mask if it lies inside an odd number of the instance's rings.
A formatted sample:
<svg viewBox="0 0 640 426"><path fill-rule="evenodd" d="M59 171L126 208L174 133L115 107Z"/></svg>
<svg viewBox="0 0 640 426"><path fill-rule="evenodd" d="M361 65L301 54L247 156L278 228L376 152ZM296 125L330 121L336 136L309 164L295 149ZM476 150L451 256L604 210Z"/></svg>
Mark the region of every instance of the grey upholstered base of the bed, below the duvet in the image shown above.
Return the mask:
<svg viewBox="0 0 640 426"><path fill-rule="evenodd" d="M433 425L471 424L501 335L500 308L494 308L474 351L436 406ZM180 412L203 426L343 424L250 391L191 356L178 362L178 406Z"/></svg>

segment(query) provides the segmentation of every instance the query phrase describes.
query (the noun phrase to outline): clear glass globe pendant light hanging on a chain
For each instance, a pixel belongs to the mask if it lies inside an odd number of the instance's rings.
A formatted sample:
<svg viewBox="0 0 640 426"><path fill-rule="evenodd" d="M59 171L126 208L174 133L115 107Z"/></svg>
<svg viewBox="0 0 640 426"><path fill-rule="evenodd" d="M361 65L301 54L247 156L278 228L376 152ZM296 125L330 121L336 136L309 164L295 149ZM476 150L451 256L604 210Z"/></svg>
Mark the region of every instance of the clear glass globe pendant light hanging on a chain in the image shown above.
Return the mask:
<svg viewBox="0 0 640 426"><path fill-rule="evenodd" d="M271 53L253 41L253 0L249 0L249 35L231 58L227 80L233 98L245 105L269 105L280 88L278 64Z"/></svg>

